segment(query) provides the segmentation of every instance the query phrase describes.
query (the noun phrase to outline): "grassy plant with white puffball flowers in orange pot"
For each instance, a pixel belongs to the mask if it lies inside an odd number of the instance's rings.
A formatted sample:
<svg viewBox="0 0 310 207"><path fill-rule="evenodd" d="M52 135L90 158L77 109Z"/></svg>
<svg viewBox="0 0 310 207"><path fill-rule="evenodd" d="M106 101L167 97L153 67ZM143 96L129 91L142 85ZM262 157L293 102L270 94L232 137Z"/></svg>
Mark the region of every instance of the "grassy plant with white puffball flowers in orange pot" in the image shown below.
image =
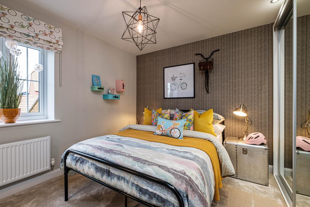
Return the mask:
<svg viewBox="0 0 310 207"><path fill-rule="evenodd" d="M5 45L10 53L8 56L2 55L0 51L0 119L4 123L15 123L20 117L20 108L18 107L24 93L22 91L24 80L21 79L17 61L21 52L17 49L18 44L13 40L7 40ZM34 66L34 71L42 70L41 64Z"/></svg>

